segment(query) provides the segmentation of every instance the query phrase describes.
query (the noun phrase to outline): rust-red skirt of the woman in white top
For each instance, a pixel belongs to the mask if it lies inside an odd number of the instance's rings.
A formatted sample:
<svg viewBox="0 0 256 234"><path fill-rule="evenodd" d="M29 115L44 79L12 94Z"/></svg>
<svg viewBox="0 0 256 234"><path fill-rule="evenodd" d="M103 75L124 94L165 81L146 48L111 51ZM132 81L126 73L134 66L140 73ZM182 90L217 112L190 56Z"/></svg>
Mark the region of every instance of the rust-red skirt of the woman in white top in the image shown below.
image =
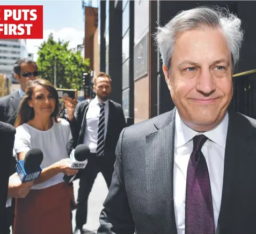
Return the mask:
<svg viewBox="0 0 256 234"><path fill-rule="evenodd" d="M13 234L70 234L71 189L60 183L16 199Z"/></svg>

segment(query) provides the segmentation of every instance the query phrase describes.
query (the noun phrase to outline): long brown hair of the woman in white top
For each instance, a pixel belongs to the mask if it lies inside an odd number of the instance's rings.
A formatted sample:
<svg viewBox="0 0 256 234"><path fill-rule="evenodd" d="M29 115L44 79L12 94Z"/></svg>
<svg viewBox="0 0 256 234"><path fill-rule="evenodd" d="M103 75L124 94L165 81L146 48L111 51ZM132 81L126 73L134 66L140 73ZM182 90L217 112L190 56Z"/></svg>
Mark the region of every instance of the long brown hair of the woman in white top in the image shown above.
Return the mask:
<svg viewBox="0 0 256 234"><path fill-rule="evenodd" d="M15 127L20 126L21 124L27 123L31 119L35 117L34 109L28 105L28 101L32 99L33 90L36 86L41 85L45 87L53 96L56 101L55 109L50 115L54 118L55 122L57 123L58 113L60 111L60 103L58 102L58 93L55 87L50 83L48 80L45 79L36 79L31 80L30 84L27 86L25 95L23 99L21 100L21 103L19 105L19 112L18 116L16 118L16 122L14 124Z"/></svg>

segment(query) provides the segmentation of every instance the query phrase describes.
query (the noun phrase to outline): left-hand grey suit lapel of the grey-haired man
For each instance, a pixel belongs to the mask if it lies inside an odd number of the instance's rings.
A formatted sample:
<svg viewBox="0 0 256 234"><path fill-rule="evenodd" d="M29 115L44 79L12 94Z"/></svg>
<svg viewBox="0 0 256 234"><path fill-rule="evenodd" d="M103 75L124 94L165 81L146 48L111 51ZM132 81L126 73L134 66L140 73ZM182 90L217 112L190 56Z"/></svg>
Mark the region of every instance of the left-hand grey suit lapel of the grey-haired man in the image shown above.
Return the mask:
<svg viewBox="0 0 256 234"><path fill-rule="evenodd" d="M146 173L150 214L159 233L177 233L173 202L175 109L154 123L146 136Z"/></svg>

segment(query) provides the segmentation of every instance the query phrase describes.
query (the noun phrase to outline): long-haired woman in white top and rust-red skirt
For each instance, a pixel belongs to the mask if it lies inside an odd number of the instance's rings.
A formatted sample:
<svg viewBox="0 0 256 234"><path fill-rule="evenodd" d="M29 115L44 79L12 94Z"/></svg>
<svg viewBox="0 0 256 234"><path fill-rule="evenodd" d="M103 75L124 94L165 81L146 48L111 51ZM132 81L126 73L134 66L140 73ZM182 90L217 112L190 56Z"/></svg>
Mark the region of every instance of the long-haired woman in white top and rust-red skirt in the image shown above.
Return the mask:
<svg viewBox="0 0 256 234"><path fill-rule="evenodd" d="M64 174L70 169L67 144L71 139L69 123L58 119L58 94L49 81L31 81L20 104L16 119L14 149L18 160L24 160L28 150L43 152L42 172L26 198L16 201L13 234L70 234L70 189Z"/></svg>

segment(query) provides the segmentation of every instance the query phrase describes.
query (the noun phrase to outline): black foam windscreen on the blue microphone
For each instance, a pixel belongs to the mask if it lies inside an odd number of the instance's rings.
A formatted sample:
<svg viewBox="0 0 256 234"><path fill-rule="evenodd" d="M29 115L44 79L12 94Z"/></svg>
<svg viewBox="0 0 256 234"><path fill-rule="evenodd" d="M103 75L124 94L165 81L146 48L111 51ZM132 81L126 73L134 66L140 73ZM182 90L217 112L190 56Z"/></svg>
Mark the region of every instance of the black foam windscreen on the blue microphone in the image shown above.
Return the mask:
<svg viewBox="0 0 256 234"><path fill-rule="evenodd" d="M28 173L33 173L38 171L43 160L43 153L41 149L31 149L29 150L24 158L24 169Z"/></svg>

